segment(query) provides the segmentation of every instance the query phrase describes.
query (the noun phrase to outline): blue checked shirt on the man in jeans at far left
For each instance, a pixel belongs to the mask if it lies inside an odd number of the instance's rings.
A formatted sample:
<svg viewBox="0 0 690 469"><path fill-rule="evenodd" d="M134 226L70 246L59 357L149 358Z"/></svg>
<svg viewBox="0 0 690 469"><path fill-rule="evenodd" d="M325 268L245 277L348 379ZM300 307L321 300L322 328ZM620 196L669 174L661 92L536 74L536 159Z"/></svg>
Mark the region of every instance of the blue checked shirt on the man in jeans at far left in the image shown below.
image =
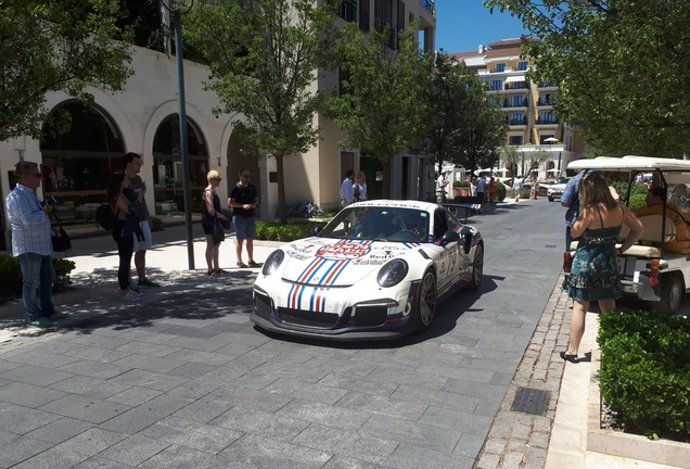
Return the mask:
<svg viewBox="0 0 690 469"><path fill-rule="evenodd" d="M8 219L12 227L12 255L25 253L51 255L53 253L50 218L36 192L16 185L5 200Z"/></svg>

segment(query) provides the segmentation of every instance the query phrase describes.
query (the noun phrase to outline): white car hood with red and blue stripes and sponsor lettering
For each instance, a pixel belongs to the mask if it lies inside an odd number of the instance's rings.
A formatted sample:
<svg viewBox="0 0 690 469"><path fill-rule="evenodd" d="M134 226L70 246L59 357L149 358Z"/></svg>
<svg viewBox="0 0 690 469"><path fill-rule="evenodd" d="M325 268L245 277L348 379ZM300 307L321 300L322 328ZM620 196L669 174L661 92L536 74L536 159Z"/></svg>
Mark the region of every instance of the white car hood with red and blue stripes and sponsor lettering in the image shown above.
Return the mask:
<svg viewBox="0 0 690 469"><path fill-rule="evenodd" d="M352 286L388 261L413 255L422 244L307 238L283 246L283 278L298 283Z"/></svg>

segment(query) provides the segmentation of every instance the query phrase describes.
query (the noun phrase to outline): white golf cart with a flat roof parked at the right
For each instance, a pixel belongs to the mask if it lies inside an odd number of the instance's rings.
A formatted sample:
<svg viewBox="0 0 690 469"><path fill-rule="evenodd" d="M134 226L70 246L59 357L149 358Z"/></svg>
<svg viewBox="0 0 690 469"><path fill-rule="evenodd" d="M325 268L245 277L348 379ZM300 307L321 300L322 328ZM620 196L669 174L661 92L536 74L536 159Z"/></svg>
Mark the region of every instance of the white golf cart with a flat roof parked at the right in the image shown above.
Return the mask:
<svg viewBox="0 0 690 469"><path fill-rule="evenodd" d="M672 192L675 185L690 185L690 161L683 160L600 156L573 161L567 168L626 173L628 191L621 194L621 202L625 204L629 204L630 187L636 183L636 176L640 173L651 173L654 186L667 188L667 193ZM683 293L690 291L690 253L667 252L664 249L665 241L676 239L675 225L666 216L669 210L664 201L662 215L639 218L643 226L642 236L636 244L618 255L618 269L625 293L649 302L660 313L673 315L680 306ZM624 226L621 238L626 234ZM619 246L616 244L616 248ZM576 249L577 243L574 242L571 251Z"/></svg>

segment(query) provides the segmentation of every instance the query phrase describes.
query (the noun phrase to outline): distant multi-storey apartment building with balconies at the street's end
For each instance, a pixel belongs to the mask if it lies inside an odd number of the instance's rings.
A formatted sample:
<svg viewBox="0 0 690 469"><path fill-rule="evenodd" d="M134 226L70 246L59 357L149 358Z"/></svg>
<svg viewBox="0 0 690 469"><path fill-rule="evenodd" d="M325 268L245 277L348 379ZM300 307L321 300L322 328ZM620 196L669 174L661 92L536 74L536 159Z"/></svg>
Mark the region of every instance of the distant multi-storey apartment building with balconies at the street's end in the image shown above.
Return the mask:
<svg viewBox="0 0 690 469"><path fill-rule="evenodd" d="M521 39L503 39L476 51L449 54L482 77L487 84L489 100L506 115L508 131L504 144L522 155L521 175L529 162L538 160L539 179L563 174L567 163L583 156L585 147L577 128L558 119L553 105L558 86L532 83L526 73L534 68L532 58L521 56ZM504 162L499 168L504 168Z"/></svg>

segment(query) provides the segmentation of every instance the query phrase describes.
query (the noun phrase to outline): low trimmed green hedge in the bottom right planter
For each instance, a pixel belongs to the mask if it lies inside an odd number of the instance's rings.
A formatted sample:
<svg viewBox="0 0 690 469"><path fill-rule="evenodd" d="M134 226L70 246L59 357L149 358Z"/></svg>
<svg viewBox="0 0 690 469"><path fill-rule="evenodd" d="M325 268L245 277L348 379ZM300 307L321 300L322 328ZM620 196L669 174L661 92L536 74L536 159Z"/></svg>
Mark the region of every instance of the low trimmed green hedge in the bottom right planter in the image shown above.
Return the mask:
<svg viewBox="0 0 690 469"><path fill-rule="evenodd" d="M690 321L643 310L599 321L601 394L626 428L690 436Z"/></svg>

